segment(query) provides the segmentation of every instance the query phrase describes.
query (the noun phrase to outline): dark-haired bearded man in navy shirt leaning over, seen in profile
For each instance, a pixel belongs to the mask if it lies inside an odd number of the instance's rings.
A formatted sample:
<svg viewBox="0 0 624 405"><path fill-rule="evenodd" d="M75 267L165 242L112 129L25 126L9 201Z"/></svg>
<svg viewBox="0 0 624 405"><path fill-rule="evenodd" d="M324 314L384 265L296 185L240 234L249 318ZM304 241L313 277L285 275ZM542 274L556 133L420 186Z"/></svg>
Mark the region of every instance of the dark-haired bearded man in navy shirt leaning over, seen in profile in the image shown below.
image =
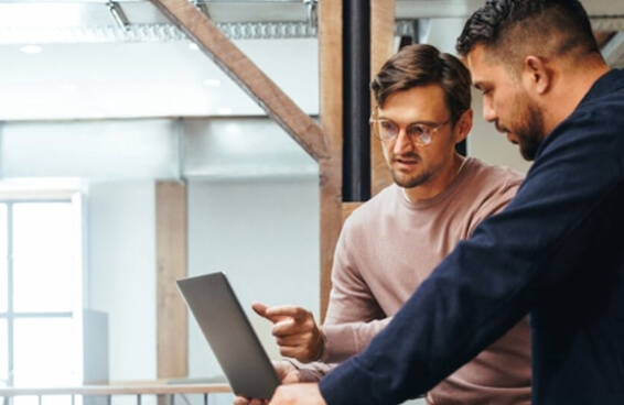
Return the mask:
<svg viewBox="0 0 624 405"><path fill-rule="evenodd" d="M535 405L624 404L624 72L578 0L488 0L458 51L526 180L362 354L271 404L401 403L526 314Z"/></svg>

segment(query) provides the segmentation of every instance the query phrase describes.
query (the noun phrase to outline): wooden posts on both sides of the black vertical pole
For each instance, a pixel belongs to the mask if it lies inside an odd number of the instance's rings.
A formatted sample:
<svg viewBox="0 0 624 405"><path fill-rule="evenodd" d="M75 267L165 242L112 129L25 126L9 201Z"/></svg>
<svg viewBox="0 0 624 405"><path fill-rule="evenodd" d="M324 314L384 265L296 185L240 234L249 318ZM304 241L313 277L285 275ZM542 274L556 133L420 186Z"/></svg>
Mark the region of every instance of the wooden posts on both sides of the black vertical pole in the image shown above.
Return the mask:
<svg viewBox="0 0 624 405"><path fill-rule="evenodd" d="M321 173L321 316L327 309L331 272L336 241L344 219L361 204L342 201L342 0L319 2L319 57L321 75L321 128L327 158L320 160ZM395 53L395 0L370 0L370 73L376 75ZM391 183L379 142L372 140L372 190L377 194Z"/></svg>

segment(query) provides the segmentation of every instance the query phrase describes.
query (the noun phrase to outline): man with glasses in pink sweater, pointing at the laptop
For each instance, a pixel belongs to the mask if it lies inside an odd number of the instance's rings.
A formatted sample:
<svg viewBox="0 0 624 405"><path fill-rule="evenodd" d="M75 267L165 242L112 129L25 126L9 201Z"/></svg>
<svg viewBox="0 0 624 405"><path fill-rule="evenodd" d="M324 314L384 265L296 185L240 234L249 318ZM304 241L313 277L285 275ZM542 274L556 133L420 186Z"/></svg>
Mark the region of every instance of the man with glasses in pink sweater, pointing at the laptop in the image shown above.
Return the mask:
<svg viewBox="0 0 624 405"><path fill-rule="evenodd" d="M431 270L516 194L523 176L455 152L472 128L471 79L454 56L429 45L400 50L372 85L370 117L394 184L345 221L332 270L325 322L295 306L267 308L284 382L319 381L362 351ZM433 387L430 404L529 403L529 326L521 320ZM237 404L245 404L237 398ZM258 402L259 403L259 402Z"/></svg>

